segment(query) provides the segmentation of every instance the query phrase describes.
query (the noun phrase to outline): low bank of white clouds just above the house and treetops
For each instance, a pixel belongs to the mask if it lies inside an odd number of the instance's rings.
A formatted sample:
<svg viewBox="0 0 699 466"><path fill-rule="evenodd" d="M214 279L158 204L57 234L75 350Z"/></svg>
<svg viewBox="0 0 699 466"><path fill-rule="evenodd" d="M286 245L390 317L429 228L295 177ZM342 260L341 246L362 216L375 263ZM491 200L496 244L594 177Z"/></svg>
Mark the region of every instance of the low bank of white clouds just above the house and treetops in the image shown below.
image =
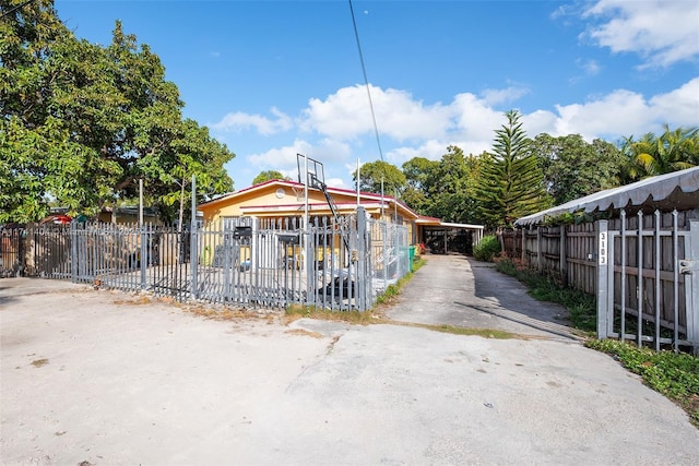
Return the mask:
<svg viewBox="0 0 699 466"><path fill-rule="evenodd" d="M414 100L408 93L394 89L375 91L381 96L381 106L392 104L395 112L400 113L393 119L382 120L382 113L377 117L380 129L389 131L388 134L381 132L384 159L398 167L414 157L437 160L447 153L449 145L458 145L465 154L479 155L490 151L495 131L506 123L503 111L512 108L498 108L491 103L499 100L493 99L495 95L508 95L507 89L501 94L493 91L490 100L471 93L458 94L448 105L425 105ZM244 163L236 164L238 172L232 171L232 176L249 176L251 179L262 170L274 169L297 179L296 154L300 153L324 164L329 186L351 187L357 157L365 163L379 158L365 98L365 88L345 87L325 100L311 100L309 107L301 110L305 118L295 120L303 124L305 133L298 133L289 144L282 143L276 148L241 157ZM366 121L352 115L353 109L364 115ZM285 118L291 126L294 120ZM233 128L244 129L240 121ZM588 141L602 138L611 142L623 136L662 131L663 123L671 128L696 127L699 123L699 77L656 95L625 88L591 95L584 101L561 103L554 108L523 113L522 122L530 138L541 133L553 136L580 134ZM400 129L400 126L404 128ZM279 143L279 139L272 138L261 141L268 147Z"/></svg>

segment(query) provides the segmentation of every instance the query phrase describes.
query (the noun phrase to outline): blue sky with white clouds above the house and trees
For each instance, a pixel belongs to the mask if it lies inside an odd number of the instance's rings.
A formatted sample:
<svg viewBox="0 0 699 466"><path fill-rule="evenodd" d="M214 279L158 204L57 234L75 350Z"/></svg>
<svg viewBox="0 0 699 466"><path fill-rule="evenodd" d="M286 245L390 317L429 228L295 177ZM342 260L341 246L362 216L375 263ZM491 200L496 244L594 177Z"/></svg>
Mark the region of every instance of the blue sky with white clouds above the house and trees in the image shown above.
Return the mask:
<svg viewBox="0 0 699 466"><path fill-rule="evenodd" d="M325 181L381 158L481 154L503 112L533 138L624 136L699 126L699 2L353 1L379 152L347 0L56 0L79 37L109 44L115 20L161 57L185 116L236 158L242 189L262 170Z"/></svg>

